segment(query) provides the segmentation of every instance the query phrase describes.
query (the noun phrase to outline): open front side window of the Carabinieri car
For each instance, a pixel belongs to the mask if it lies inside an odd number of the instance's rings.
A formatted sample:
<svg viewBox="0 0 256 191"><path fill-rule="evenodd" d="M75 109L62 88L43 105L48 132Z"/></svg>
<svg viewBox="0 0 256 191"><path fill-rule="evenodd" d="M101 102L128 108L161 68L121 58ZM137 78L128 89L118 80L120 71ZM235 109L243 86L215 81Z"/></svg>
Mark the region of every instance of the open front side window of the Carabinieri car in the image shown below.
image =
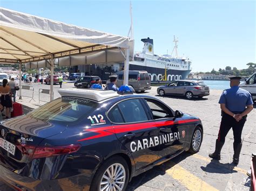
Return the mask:
<svg viewBox="0 0 256 191"><path fill-rule="evenodd" d="M152 111L153 119L173 117L172 111L161 102L147 98L145 98L145 100L147 105L149 105L150 110Z"/></svg>

